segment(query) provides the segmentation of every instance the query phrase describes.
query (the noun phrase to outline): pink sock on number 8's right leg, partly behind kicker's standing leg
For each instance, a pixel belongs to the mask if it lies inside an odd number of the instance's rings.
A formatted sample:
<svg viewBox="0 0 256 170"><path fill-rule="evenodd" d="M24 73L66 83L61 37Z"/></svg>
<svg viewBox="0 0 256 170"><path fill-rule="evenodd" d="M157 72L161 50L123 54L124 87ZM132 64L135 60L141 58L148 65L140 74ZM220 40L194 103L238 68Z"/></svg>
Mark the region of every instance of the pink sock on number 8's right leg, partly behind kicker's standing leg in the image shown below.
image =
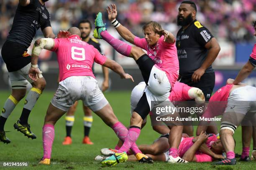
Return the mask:
<svg viewBox="0 0 256 170"><path fill-rule="evenodd" d="M128 130L127 128L121 123L121 122L117 122L115 123L115 125L113 125L113 130L115 131L115 134L118 136L118 138L124 142L125 138L128 134ZM130 149L130 148L129 148ZM118 148L118 150L120 150L120 148ZM138 146L136 145L136 143L133 143L133 145L131 146L131 150L133 151L134 155L136 155L137 153L142 153L141 150L139 150ZM130 154L131 155L131 154Z"/></svg>

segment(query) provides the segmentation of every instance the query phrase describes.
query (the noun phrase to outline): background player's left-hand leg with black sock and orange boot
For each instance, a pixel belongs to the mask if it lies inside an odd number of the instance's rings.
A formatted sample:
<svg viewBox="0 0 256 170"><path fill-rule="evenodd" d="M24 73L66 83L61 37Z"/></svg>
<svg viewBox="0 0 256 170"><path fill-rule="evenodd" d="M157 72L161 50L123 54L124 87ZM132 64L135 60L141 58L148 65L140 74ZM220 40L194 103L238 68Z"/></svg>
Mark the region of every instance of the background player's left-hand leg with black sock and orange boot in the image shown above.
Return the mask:
<svg viewBox="0 0 256 170"><path fill-rule="evenodd" d="M62 142L62 145L71 145L72 144L72 138L71 138L71 131L72 127L74 125L74 113L77 110L77 104L78 101L74 102L74 105L69 107L69 110L67 111L67 115L65 117L66 120L66 137L64 138L64 141Z"/></svg>

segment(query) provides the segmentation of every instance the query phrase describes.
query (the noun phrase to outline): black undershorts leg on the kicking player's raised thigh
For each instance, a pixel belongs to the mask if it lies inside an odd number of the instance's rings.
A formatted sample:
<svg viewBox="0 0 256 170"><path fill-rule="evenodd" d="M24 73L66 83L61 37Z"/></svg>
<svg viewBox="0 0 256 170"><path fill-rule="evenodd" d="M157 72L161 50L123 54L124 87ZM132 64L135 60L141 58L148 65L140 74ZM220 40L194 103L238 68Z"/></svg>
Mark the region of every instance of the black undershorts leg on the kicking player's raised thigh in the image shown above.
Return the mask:
<svg viewBox="0 0 256 170"><path fill-rule="evenodd" d="M141 70L141 74L144 81L146 82L146 85L148 85L150 72L152 70L152 67L155 65L155 62L150 57L148 57L148 55L144 54L139 57L138 60L136 60L136 63Z"/></svg>

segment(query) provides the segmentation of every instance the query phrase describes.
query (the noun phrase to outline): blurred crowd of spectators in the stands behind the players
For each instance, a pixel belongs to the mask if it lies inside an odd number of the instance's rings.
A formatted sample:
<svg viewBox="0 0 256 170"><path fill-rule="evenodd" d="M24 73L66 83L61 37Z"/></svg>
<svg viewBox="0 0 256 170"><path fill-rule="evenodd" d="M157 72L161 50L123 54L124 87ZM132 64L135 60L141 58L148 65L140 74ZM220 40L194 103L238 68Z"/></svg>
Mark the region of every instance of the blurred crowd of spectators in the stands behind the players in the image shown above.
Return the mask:
<svg viewBox="0 0 256 170"><path fill-rule="evenodd" d="M135 35L143 36L142 25L150 20L176 35L178 7L182 0L49 0L46 7L51 15L54 33L77 26L79 20L94 21L101 11L109 28L107 5L115 3L118 21ZM0 45L3 45L13 23L18 0L0 0ZM256 0L194 0L197 20L218 39L243 42L253 40L252 21L256 20ZM38 35L41 31L38 31Z"/></svg>

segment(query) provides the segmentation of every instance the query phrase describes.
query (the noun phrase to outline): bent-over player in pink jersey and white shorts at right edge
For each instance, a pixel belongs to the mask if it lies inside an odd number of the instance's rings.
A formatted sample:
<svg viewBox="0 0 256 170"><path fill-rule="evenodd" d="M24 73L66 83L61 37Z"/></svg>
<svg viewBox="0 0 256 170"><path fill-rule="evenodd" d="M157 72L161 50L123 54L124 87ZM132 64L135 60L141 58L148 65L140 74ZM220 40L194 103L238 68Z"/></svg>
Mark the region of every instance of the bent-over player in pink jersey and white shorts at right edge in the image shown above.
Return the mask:
<svg viewBox="0 0 256 170"><path fill-rule="evenodd" d="M221 119L220 139L227 158L216 162L217 165L235 165L235 141L233 135L242 121L248 122L256 112L256 87L243 83L238 85L225 85L221 87L209 100L207 110L202 117L215 117L223 115ZM245 119L244 119L245 118ZM244 119L244 120L243 120ZM255 122L255 120L253 120ZM201 122L197 133L204 131L207 125ZM243 125L245 125L243 123Z"/></svg>

